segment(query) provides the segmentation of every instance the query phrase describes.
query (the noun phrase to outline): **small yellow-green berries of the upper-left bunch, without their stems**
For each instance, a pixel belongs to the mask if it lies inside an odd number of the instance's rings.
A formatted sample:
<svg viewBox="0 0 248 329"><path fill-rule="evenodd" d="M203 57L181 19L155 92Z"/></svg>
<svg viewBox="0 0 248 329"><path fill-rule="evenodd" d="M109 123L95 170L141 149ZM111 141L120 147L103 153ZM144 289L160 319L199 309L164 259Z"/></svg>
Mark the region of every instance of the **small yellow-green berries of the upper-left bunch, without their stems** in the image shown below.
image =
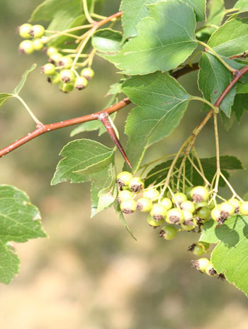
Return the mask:
<svg viewBox="0 0 248 329"><path fill-rule="evenodd" d="M74 88L77 90L86 88L89 80L94 77L94 70L91 67L84 67L81 72L77 72L70 55L62 55L55 47L45 48L45 43L49 41L49 38L44 36L45 28L43 26L31 26L25 23L19 26L18 32L22 38L31 38L31 40L21 42L20 52L31 54L34 50L45 50L48 62L41 67L41 72L47 76L48 82L59 84L59 89L64 93L69 93Z"/></svg>

